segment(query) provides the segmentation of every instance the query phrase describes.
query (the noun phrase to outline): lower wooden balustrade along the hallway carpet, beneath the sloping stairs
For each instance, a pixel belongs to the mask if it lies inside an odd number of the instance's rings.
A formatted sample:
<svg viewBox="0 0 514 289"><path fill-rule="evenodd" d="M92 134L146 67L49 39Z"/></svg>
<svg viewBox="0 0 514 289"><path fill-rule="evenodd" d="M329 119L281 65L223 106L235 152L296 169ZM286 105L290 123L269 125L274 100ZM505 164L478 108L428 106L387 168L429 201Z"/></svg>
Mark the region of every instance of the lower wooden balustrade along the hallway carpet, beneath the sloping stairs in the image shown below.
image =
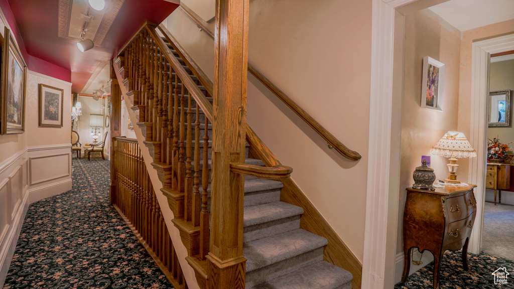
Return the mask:
<svg viewBox="0 0 514 289"><path fill-rule="evenodd" d="M177 289L188 288L137 140L116 137L113 206Z"/></svg>

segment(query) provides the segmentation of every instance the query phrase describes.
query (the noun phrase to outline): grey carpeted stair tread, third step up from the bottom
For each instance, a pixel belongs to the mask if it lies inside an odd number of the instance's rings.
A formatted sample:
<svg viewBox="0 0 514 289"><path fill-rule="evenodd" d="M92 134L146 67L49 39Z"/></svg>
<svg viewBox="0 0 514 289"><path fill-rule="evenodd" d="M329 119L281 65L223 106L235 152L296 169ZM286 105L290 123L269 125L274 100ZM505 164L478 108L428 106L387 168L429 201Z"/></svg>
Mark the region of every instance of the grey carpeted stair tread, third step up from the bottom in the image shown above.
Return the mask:
<svg viewBox="0 0 514 289"><path fill-rule="evenodd" d="M301 214L303 214L302 208L284 202L245 207L243 226L258 225Z"/></svg>

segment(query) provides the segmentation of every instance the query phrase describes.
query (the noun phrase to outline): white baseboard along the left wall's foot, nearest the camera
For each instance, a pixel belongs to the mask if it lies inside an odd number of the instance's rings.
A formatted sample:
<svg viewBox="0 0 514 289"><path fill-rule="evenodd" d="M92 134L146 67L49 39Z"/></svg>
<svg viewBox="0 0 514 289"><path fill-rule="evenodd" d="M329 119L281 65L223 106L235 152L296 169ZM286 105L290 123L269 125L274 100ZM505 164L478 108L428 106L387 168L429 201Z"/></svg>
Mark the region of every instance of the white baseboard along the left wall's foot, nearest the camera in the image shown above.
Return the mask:
<svg viewBox="0 0 514 289"><path fill-rule="evenodd" d="M14 216L13 223L9 227L9 232L6 239L7 241L5 243L6 245L0 249L0 288L4 287L5 278L9 272L12 256L14 256L14 249L16 249L16 244L18 242L18 238L20 237L23 221L25 220L25 215L27 214L27 209L29 207L29 194L27 190L25 191L26 193L23 197L23 205L18 207L18 211Z"/></svg>

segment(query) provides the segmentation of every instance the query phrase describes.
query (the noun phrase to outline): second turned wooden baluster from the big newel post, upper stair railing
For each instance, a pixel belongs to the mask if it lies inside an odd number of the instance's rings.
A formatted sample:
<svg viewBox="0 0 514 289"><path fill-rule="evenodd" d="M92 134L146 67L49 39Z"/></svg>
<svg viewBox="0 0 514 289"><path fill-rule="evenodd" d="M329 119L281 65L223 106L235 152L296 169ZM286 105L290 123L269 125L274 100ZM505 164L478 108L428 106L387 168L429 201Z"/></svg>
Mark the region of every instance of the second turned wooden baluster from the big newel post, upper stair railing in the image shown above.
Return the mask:
<svg viewBox="0 0 514 289"><path fill-rule="evenodd" d="M193 179L193 226L200 225L200 106L196 103L196 121L194 126L194 179Z"/></svg>

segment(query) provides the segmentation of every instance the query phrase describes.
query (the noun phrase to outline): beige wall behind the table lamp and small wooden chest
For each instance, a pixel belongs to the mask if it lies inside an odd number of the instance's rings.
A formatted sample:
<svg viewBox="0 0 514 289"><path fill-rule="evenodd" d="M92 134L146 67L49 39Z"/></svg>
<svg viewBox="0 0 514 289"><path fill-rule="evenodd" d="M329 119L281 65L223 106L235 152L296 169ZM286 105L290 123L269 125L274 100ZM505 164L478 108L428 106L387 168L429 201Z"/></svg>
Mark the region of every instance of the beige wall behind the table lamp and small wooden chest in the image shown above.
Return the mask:
<svg viewBox="0 0 514 289"><path fill-rule="evenodd" d="M397 252L403 252L403 208L405 189L412 187L412 173L421 165L421 155L450 130L457 129L461 31L428 9L405 17L403 96L401 107L401 173ZM430 56L445 64L443 111L421 108L423 58ZM431 156L437 179L446 178L447 159ZM457 172L458 173L458 172ZM458 174L461 178L461 174Z"/></svg>

